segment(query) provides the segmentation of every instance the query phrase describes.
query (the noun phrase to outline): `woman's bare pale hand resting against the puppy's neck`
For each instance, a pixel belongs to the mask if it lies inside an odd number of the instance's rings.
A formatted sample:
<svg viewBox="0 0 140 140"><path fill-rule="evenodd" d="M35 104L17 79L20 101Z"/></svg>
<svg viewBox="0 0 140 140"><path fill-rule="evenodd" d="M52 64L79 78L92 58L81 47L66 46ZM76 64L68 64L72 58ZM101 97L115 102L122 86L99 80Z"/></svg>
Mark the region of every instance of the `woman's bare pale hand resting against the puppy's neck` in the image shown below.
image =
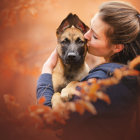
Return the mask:
<svg viewBox="0 0 140 140"><path fill-rule="evenodd" d="M49 56L48 60L44 63L43 68L42 68L42 74L43 73L50 73L52 74L53 69L56 66L58 59L58 53L56 49L51 53Z"/></svg>

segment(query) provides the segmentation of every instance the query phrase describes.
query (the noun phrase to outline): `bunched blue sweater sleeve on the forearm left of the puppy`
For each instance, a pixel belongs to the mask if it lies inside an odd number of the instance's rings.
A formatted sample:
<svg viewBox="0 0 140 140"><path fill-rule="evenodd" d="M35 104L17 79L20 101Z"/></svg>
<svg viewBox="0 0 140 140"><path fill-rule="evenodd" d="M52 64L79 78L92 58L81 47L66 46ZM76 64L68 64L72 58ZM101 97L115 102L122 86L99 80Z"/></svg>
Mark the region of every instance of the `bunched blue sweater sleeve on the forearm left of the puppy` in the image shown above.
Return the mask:
<svg viewBox="0 0 140 140"><path fill-rule="evenodd" d="M51 107L51 99L53 94L54 90L52 84L52 75L48 73L41 74L37 81L37 100L44 96L46 98L44 105Z"/></svg>

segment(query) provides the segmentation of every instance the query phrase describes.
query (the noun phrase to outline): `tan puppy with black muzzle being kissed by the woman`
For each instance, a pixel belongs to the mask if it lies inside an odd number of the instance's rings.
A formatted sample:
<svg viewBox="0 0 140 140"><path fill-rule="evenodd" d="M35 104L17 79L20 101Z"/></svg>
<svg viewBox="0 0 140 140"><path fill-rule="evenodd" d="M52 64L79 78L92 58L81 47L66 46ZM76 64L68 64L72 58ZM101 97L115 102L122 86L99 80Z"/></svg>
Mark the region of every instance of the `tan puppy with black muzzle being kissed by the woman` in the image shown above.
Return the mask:
<svg viewBox="0 0 140 140"><path fill-rule="evenodd" d="M71 98L67 90L67 87L75 84L71 81L79 81L89 72L85 62L87 40L84 38L88 30L88 26L77 15L70 13L56 31L58 62L52 74L55 92L51 100L53 108L62 102L61 98L65 101Z"/></svg>

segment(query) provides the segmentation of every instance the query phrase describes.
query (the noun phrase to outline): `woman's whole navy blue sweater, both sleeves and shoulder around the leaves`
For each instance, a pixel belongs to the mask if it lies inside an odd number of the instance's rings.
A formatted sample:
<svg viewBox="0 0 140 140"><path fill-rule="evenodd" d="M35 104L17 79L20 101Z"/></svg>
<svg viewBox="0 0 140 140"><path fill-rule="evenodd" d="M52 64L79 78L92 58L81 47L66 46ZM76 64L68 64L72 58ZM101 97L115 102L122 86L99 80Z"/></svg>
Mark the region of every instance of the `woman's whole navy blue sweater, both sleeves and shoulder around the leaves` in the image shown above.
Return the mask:
<svg viewBox="0 0 140 140"><path fill-rule="evenodd" d="M117 63L105 63L97 66L92 69L89 74L81 80L86 81L91 78L97 79L106 79L113 75L113 71L116 68L121 68L124 65ZM130 79L130 80L129 80ZM128 82L127 82L128 81ZM124 77L122 81L114 86L111 86L106 89L106 93L109 95L111 99L111 105L108 106L104 101L98 100L93 103L99 113L105 113L109 111L116 111L118 109L120 111L126 107L126 105L131 105L133 98L136 97L136 80L132 77ZM44 73L42 74L37 82L37 99L42 96L46 97L45 105L51 107L51 98L54 94L53 85L52 85L52 75ZM75 96L74 100L77 97ZM126 109L128 109L126 107Z"/></svg>

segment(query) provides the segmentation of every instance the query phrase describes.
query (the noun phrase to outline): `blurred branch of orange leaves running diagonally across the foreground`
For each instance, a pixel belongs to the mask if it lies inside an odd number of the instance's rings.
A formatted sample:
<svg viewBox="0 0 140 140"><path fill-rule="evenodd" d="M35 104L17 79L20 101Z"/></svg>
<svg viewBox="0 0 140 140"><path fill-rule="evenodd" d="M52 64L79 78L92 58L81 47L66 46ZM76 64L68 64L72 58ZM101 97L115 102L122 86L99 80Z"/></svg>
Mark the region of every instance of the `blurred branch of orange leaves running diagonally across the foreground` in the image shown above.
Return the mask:
<svg viewBox="0 0 140 140"><path fill-rule="evenodd" d="M96 115L98 112L91 101L96 102L98 99L101 99L108 104L111 103L109 97L100 90L101 87L117 84L123 76L139 76L140 72L134 69L139 65L140 56L133 60L128 67L116 69L114 76L109 79L91 79L86 82L81 82L77 88L80 99L75 102L61 103L55 109L44 106L45 98L42 97L38 101L38 104L31 105L26 111L22 111L13 96L4 95L4 106L6 108L4 113L1 112L1 119L3 119L3 122L8 123L8 128L10 124L10 128L12 128L11 133L18 136L24 135L26 139L31 134L34 134L32 137L36 139L39 137L43 139L44 135L52 139L57 139L58 137L56 136L62 135L63 131L61 127L66 124L71 112L78 112L82 115L87 110L93 115ZM43 135L39 136L39 133Z"/></svg>

